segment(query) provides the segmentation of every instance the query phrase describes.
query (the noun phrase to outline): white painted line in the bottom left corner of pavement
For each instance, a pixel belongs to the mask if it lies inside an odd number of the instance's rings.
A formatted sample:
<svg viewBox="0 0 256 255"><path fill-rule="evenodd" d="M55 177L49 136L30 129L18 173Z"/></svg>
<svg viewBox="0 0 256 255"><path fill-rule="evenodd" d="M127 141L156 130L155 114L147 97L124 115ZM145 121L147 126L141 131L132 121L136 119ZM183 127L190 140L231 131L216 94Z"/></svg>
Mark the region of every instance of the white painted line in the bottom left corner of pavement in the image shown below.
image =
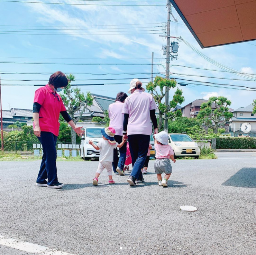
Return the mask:
<svg viewBox="0 0 256 255"><path fill-rule="evenodd" d="M4 236L0 236L0 244L18 249L20 251L25 251L25 252L35 253L40 255L75 255L75 254L70 254L70 253L50 249L46 246L28 243L28 242L20 241L18 239L7 238Z"/></svg>

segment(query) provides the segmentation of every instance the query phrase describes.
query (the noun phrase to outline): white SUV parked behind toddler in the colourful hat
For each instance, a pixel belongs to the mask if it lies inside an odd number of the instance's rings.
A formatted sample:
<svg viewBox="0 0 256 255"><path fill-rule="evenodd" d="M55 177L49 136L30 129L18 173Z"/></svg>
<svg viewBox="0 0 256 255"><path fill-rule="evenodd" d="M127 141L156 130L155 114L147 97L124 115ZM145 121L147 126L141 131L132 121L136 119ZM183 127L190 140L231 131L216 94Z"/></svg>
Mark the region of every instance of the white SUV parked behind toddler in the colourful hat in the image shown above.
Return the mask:
<svg viewBox="0 0 256 255"><path fill-rule="evenodd" d="M84 160L89 160L90 158L99 158L100 157L100 151L95 150L90 144L89 140L92 140L95 145L99 143L99 141L103 140L102 139L102 134L101 134L101 129L100 127L85 127L84 131L85 134L82 136L81 139L81 146L80 146L80 151L81 151L81 158Z"/></svg>

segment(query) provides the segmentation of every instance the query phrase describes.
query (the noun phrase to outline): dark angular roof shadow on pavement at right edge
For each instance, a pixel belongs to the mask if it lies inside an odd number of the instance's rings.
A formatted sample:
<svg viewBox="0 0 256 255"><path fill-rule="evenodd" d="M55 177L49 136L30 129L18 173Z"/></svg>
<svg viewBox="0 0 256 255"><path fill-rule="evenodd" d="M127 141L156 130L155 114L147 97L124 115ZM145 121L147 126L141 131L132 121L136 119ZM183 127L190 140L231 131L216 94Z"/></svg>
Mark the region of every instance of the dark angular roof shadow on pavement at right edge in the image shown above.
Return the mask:
<svg viewBox="0 0 256 255"><path fill-rule="evenodd" d="M231 176L224 186L256 188L256 168L242 168L236 174Z"/></svg>

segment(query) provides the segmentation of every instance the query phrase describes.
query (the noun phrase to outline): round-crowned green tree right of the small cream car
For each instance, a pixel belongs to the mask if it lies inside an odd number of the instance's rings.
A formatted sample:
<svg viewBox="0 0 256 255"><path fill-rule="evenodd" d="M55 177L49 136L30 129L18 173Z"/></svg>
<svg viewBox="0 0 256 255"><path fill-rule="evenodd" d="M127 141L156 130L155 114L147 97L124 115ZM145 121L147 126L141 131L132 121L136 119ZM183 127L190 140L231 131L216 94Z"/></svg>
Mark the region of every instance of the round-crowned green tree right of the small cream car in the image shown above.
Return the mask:
<svg viewBox="0 0 256 255"><path fill-rule="evenodd" d="M212 105L216 109L212 109ZM202 103L201 109L198 113L198 119L202 120L204 124L213 130L213 134L218 133L218 129L225 125L230 118L232 112L229 112L231 101L228 98L210 97L208 102ZM216 149L216 138L212 139L212 149Z"/></svg>

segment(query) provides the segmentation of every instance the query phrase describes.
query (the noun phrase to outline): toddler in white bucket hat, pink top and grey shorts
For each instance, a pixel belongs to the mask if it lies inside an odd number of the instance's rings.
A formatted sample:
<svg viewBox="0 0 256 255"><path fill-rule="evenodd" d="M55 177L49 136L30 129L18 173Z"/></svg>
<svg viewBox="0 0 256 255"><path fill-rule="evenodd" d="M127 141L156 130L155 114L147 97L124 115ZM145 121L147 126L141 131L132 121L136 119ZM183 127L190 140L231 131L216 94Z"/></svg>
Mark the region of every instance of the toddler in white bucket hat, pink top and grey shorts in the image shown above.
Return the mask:
<svg viewBox="0 0 256 255"><path fill-rule="evenodd" d="M165 131L155 134L155 150L155 172L157 174L158 185L167 187L167 180L172 173L170 158L174 163L176 160L174 159L174 151L168 144L168 134ZM162 179L163 173L165 173L165 177Z"/></svg>

